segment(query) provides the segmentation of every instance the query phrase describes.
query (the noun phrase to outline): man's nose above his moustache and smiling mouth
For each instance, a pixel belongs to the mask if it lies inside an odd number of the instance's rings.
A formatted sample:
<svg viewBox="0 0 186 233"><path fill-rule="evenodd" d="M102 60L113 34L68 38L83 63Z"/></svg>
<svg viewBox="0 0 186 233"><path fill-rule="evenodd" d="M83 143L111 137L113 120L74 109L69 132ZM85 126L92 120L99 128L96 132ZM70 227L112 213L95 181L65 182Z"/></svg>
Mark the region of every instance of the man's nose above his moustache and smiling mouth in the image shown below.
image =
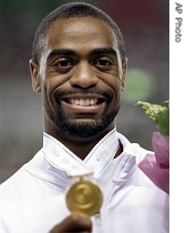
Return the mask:
<svg viewBox="0 0 186 233"><path fill-rule="evenodd" d="M93 71L93 67L87 61L79 62L73 71L73 74L70 79L72 87L76 88L92 88L97 84L99 79Z"/></svg>

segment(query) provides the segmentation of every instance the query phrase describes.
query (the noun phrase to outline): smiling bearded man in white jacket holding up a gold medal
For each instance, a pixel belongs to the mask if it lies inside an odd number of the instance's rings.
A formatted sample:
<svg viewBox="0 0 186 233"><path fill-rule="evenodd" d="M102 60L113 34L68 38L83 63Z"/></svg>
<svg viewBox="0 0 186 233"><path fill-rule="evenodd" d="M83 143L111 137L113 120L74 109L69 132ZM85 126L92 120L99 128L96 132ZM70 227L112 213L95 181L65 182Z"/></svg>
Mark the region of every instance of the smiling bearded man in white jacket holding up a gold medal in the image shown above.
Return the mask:
<svg viewBox="0 0 186 233"><path fill-rule="evenodd" d="M43 148L1 185L0 232L167 233L168 195L138 169L151 152L116 130L127 59L115 22L91 4L61 6L29 65Z"/></svg>

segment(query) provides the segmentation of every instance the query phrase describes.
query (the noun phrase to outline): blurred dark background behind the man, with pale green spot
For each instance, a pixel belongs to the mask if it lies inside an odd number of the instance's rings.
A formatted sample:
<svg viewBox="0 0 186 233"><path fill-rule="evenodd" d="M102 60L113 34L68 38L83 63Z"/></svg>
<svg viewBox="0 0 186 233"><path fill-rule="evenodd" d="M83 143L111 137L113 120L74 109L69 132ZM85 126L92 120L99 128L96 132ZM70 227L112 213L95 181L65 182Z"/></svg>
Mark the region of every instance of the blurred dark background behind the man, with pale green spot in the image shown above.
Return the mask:
<svg viewBox="0 0 186 233"><path fill-rule="evenodd" d="M28 62L41 19L63 0L0 0L0 183L42 146L41 99L32 92ZM167 0L90 0L121 28L128 58L126 90L117 129L152 150L156 130L138 100L169 99L169 2Z"/></svg>

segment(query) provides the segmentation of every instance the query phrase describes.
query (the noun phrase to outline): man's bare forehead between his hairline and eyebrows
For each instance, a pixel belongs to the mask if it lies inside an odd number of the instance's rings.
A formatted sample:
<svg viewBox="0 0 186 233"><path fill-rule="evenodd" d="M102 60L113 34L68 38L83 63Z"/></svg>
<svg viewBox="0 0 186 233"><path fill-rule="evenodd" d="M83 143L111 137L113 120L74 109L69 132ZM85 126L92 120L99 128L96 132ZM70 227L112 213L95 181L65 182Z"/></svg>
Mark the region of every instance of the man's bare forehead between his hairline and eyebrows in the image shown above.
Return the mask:
<svg viewBox="0 0 186 233"><path fill-rule="evenodd" d="M111 27L100 19L81 17L59 19L48 29L45 48L81 49L112 47L116 50L116 37Z"/></svg>

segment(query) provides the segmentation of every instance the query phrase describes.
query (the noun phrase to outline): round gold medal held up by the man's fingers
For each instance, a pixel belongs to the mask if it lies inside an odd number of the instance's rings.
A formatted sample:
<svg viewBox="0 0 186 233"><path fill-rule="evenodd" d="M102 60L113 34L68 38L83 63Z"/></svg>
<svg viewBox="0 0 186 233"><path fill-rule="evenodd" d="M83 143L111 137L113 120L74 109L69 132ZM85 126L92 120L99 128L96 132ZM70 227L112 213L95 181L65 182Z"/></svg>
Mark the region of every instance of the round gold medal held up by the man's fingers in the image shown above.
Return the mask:
<svg viewBox="0 0 186 233"><path fill-rule="evenodd" d="M103 195L100 188L91 181L80 179L66 194L66 204L71 212L80 212L89 216L96 214L102 205Z"/></svg>

